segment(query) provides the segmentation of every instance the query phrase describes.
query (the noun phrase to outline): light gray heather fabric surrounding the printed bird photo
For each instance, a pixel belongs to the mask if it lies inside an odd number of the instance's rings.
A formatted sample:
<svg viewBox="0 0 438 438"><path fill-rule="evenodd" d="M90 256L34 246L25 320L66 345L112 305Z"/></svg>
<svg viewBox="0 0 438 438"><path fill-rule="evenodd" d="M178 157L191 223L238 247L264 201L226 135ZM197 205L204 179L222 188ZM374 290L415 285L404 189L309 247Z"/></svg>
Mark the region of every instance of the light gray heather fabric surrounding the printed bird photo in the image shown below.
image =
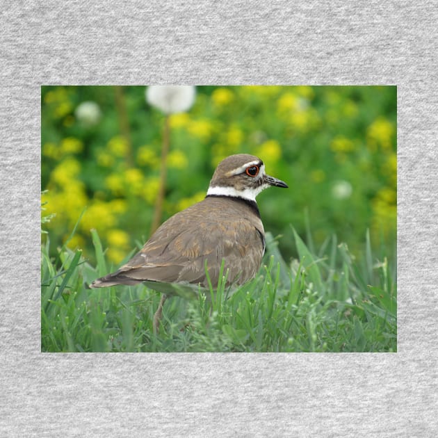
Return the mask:
<svg viewBox="0 0 438 438"><path fill-rule="evenodd" d="M0 436L437 436L437 11L3 1ZM41 354L40 85L56 83L398 85L398 353Z"/></svg>

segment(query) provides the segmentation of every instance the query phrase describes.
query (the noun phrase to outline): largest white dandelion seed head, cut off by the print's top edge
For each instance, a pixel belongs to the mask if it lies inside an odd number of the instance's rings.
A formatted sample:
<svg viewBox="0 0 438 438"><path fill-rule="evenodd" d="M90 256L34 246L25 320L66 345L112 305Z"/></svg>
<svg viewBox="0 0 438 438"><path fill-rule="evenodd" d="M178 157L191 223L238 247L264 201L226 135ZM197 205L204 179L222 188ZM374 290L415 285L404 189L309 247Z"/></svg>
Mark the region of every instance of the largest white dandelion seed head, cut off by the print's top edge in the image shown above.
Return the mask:
<svg viewBox="0 0 438 438"><path fill-rule="evenodd" d="M146 102L165 114L184 113L195 102L194 86L149 86Z"/></svg>

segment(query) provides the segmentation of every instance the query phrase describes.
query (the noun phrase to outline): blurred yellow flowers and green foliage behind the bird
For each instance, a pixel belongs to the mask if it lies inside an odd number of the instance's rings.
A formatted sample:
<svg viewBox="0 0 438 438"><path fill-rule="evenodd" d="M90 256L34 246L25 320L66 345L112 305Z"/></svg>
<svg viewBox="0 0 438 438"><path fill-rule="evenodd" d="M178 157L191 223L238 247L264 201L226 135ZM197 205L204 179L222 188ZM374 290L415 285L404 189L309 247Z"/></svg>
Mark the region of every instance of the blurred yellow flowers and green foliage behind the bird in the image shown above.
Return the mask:
<svg viewBox="0 0 438 438"><path fill-rule="evenodd" d="M165 115L146 90L42 87L42 216L55 215L42 238L54 252L77 225L67 245L94 263L97 229L117 266L149 237ZM204 198L220 160L248 153L289 184L257 197L286 260L291 226L317 247L334 233L358 257L369 229L395 255L395 86L197 86L193 106L168 124L161 222Z"/></svg>

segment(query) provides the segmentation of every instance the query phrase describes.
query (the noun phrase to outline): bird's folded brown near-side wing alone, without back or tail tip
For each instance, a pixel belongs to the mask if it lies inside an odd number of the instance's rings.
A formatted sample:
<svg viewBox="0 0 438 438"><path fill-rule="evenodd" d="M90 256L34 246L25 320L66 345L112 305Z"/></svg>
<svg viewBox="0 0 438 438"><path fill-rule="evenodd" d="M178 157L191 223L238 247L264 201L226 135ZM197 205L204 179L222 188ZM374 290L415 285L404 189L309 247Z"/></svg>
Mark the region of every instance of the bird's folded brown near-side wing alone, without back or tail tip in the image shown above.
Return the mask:
<svg viewBox="0 0 438 438"><path fill-rule="evenodd" d="M263 257L259 232L245 220L220 227L217 223L201 222L180 234L158 237L147 242L115 274L137 281L148 279L208 286L206 263L211 283L217 286L220 265L225 259L224 273L229 270L228 283L242 284L256 275Z"/></svg>

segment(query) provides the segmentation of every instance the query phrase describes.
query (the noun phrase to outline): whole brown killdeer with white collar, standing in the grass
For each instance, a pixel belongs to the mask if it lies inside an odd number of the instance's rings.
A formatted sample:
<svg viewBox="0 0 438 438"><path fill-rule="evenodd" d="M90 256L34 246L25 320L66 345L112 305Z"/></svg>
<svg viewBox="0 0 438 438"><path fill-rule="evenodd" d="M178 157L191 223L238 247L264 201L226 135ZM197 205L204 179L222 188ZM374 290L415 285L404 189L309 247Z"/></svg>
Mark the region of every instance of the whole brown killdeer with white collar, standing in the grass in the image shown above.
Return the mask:
<svg viewBox="0 0 438 438"><path fill-rule="evenodd" d="M222 263L225 286L248 282L257 274L265 251L255 198L269 186L287 184L266 175L257 156L228 156L218 164L204 200L166 220L128 263L90 287L145 283L162 292L154 315L157 330L167 295L193 293L193 286L208 288L206 271L213 288Z"/></svg>

